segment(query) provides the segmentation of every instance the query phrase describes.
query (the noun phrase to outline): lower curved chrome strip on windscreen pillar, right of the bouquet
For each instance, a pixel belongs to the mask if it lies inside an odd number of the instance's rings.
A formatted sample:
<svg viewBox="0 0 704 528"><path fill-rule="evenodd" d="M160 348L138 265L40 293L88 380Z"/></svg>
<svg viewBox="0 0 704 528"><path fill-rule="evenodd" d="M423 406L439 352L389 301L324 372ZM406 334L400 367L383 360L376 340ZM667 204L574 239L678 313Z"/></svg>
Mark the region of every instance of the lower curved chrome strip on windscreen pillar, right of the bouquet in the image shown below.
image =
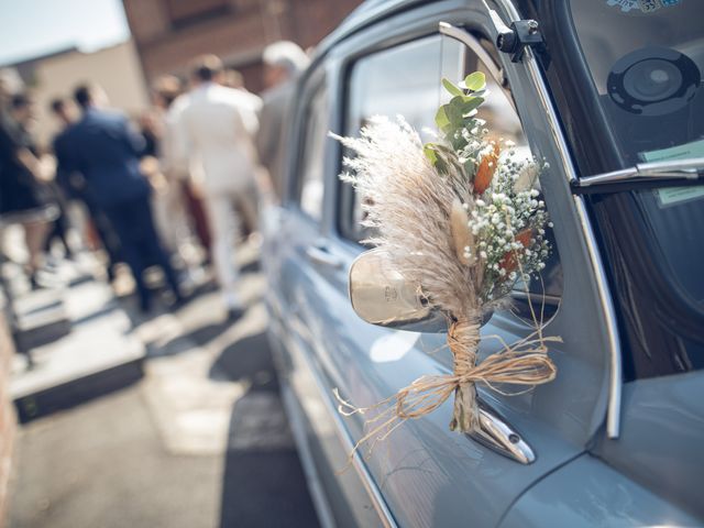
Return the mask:
<svg viewBox="0 0 704 528"><path fill-rule="evenodd" d="M610 376L608 386L608 409L606 414L606 433L608 438L618 438L620 432L620 398L622 398L622 355L620 355L620 340L618 338L618 327L616 324L616 316L614 304L610 295L608 295L608 286L606 283L606 273L596 248L596 239L588 216L586 213L586 206L584 205L584 197L574 196L574 205L576 207L578 215L580 217L580 223L582 230L586 235L586 246L592 258L592 265L594 266L594 275L596 277L596 284L600 290L600 298L602 307L604 309L606 330L608 333L608 344L612 350L610 354Z"/></svg>

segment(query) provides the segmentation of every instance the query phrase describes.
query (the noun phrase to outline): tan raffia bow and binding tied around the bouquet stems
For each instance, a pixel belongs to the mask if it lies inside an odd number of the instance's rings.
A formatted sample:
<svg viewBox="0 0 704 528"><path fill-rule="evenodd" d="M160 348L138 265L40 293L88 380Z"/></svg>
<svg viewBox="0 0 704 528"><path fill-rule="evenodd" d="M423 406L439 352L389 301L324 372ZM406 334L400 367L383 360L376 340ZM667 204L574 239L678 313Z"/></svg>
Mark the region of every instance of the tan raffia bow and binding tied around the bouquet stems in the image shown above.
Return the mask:
<svg viewBox="0 0 704 528"><path fill-rule="evenodd" d="M547 355L546 343L559 342L561 339L543 337L541 324L532 333L512 345L506 344L498 336L485 337L485 339L488 338L498 340L503 344L503 350L488 355L477 365L479 320L463 319L451 322L448 346L453 356L452 374L420 376L394 396L371 407L355 407L342 399L336 388L333 392L340 404L338 410L342 415L380 411L365 421L367 432L354 446L349 461L351 462L355 452L365 444L369 447L367 454L370 454L376 442L385 440L406 420L421 418L432 413L453 393L454 411L450 429L459 432L477 431L481 427L476 402L477 383L483 383L501 394L520 394L520 392L506 393L496 385L527 386L530 389L554 380L557 369Z"/></svg>

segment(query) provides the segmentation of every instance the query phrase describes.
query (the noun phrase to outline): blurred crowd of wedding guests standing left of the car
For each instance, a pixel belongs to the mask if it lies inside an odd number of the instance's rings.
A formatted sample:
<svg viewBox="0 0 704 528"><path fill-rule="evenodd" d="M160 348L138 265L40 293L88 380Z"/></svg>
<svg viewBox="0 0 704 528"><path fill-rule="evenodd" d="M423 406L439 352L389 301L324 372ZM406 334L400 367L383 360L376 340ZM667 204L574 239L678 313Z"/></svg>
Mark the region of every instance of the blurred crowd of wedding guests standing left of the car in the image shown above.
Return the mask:
<svg viewBox="0 0 704 528"><path fill-rule="evenodd" d="M284 121L307 55L290 42L264 53L265 91L215 55L193 62L188 79L163 76L153 106L136 119L110 109L103 90L78 84L52 101L58 132L41 147L33 134L31 91L0 82L0 262L7 228L21 226L32 288L57 260L96 256L109 280L129 267L141 310L158 298L187 299L212 266L231 317L238 296L238 244L257 240L263 200L283 193ZM162 271L168 292L145 277Z"/></svg>

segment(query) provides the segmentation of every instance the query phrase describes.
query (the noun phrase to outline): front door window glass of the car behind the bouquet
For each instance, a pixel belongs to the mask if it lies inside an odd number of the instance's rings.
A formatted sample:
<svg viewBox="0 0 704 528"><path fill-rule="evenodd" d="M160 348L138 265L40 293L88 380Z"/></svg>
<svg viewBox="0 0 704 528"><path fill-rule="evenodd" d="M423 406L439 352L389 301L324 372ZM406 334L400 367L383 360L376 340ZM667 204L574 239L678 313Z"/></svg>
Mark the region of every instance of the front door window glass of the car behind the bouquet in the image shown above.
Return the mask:
<svg viewBox="0 0 704 528"><path fill-rule="evenodd" d="M494 51L488 41L482 45ZM440 78L459 80L471 72L486 75L490 97L480 109L480 117L486 120L486 128L496 139L515 143L515 156L530 160L532 153L524 133L520 119L508 89L493 78L490 69L464 45L450 38L433 35L405 43L359 59L351 69L345 107L345 134L358 135L360 129L375 114L403 116L427 140L424 129L435 130L435 114L449 96L440 88ZM371 233L360 227L363 219L361 202L348 184L342 185L339 207L339 229L341 234L360 242ZM536 182L540 191L540 184ZM541 199L540 196L538 199ZM530 318L527 300L534 307L542 305L544 315L550 317L557 310L562 295L562 268L552 230L547 239L552 243L552 255L546 263L541 277L534 277L528 287L519 283L515 288L515 311Z"/></svg>

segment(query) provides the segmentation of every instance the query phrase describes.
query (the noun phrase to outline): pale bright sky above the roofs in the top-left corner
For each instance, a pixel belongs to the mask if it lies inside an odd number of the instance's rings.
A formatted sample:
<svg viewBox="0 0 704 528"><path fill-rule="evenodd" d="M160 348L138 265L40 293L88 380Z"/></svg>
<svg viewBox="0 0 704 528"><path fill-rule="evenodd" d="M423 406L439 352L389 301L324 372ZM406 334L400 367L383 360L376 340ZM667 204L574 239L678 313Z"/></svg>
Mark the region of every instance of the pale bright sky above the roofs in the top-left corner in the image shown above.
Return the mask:
<svg viewBox="0 0 704 528"><path fill-rule="evenodd" d="M0 0L0 65L70 46L90 52L129 36L121 0Z"/></svg>

